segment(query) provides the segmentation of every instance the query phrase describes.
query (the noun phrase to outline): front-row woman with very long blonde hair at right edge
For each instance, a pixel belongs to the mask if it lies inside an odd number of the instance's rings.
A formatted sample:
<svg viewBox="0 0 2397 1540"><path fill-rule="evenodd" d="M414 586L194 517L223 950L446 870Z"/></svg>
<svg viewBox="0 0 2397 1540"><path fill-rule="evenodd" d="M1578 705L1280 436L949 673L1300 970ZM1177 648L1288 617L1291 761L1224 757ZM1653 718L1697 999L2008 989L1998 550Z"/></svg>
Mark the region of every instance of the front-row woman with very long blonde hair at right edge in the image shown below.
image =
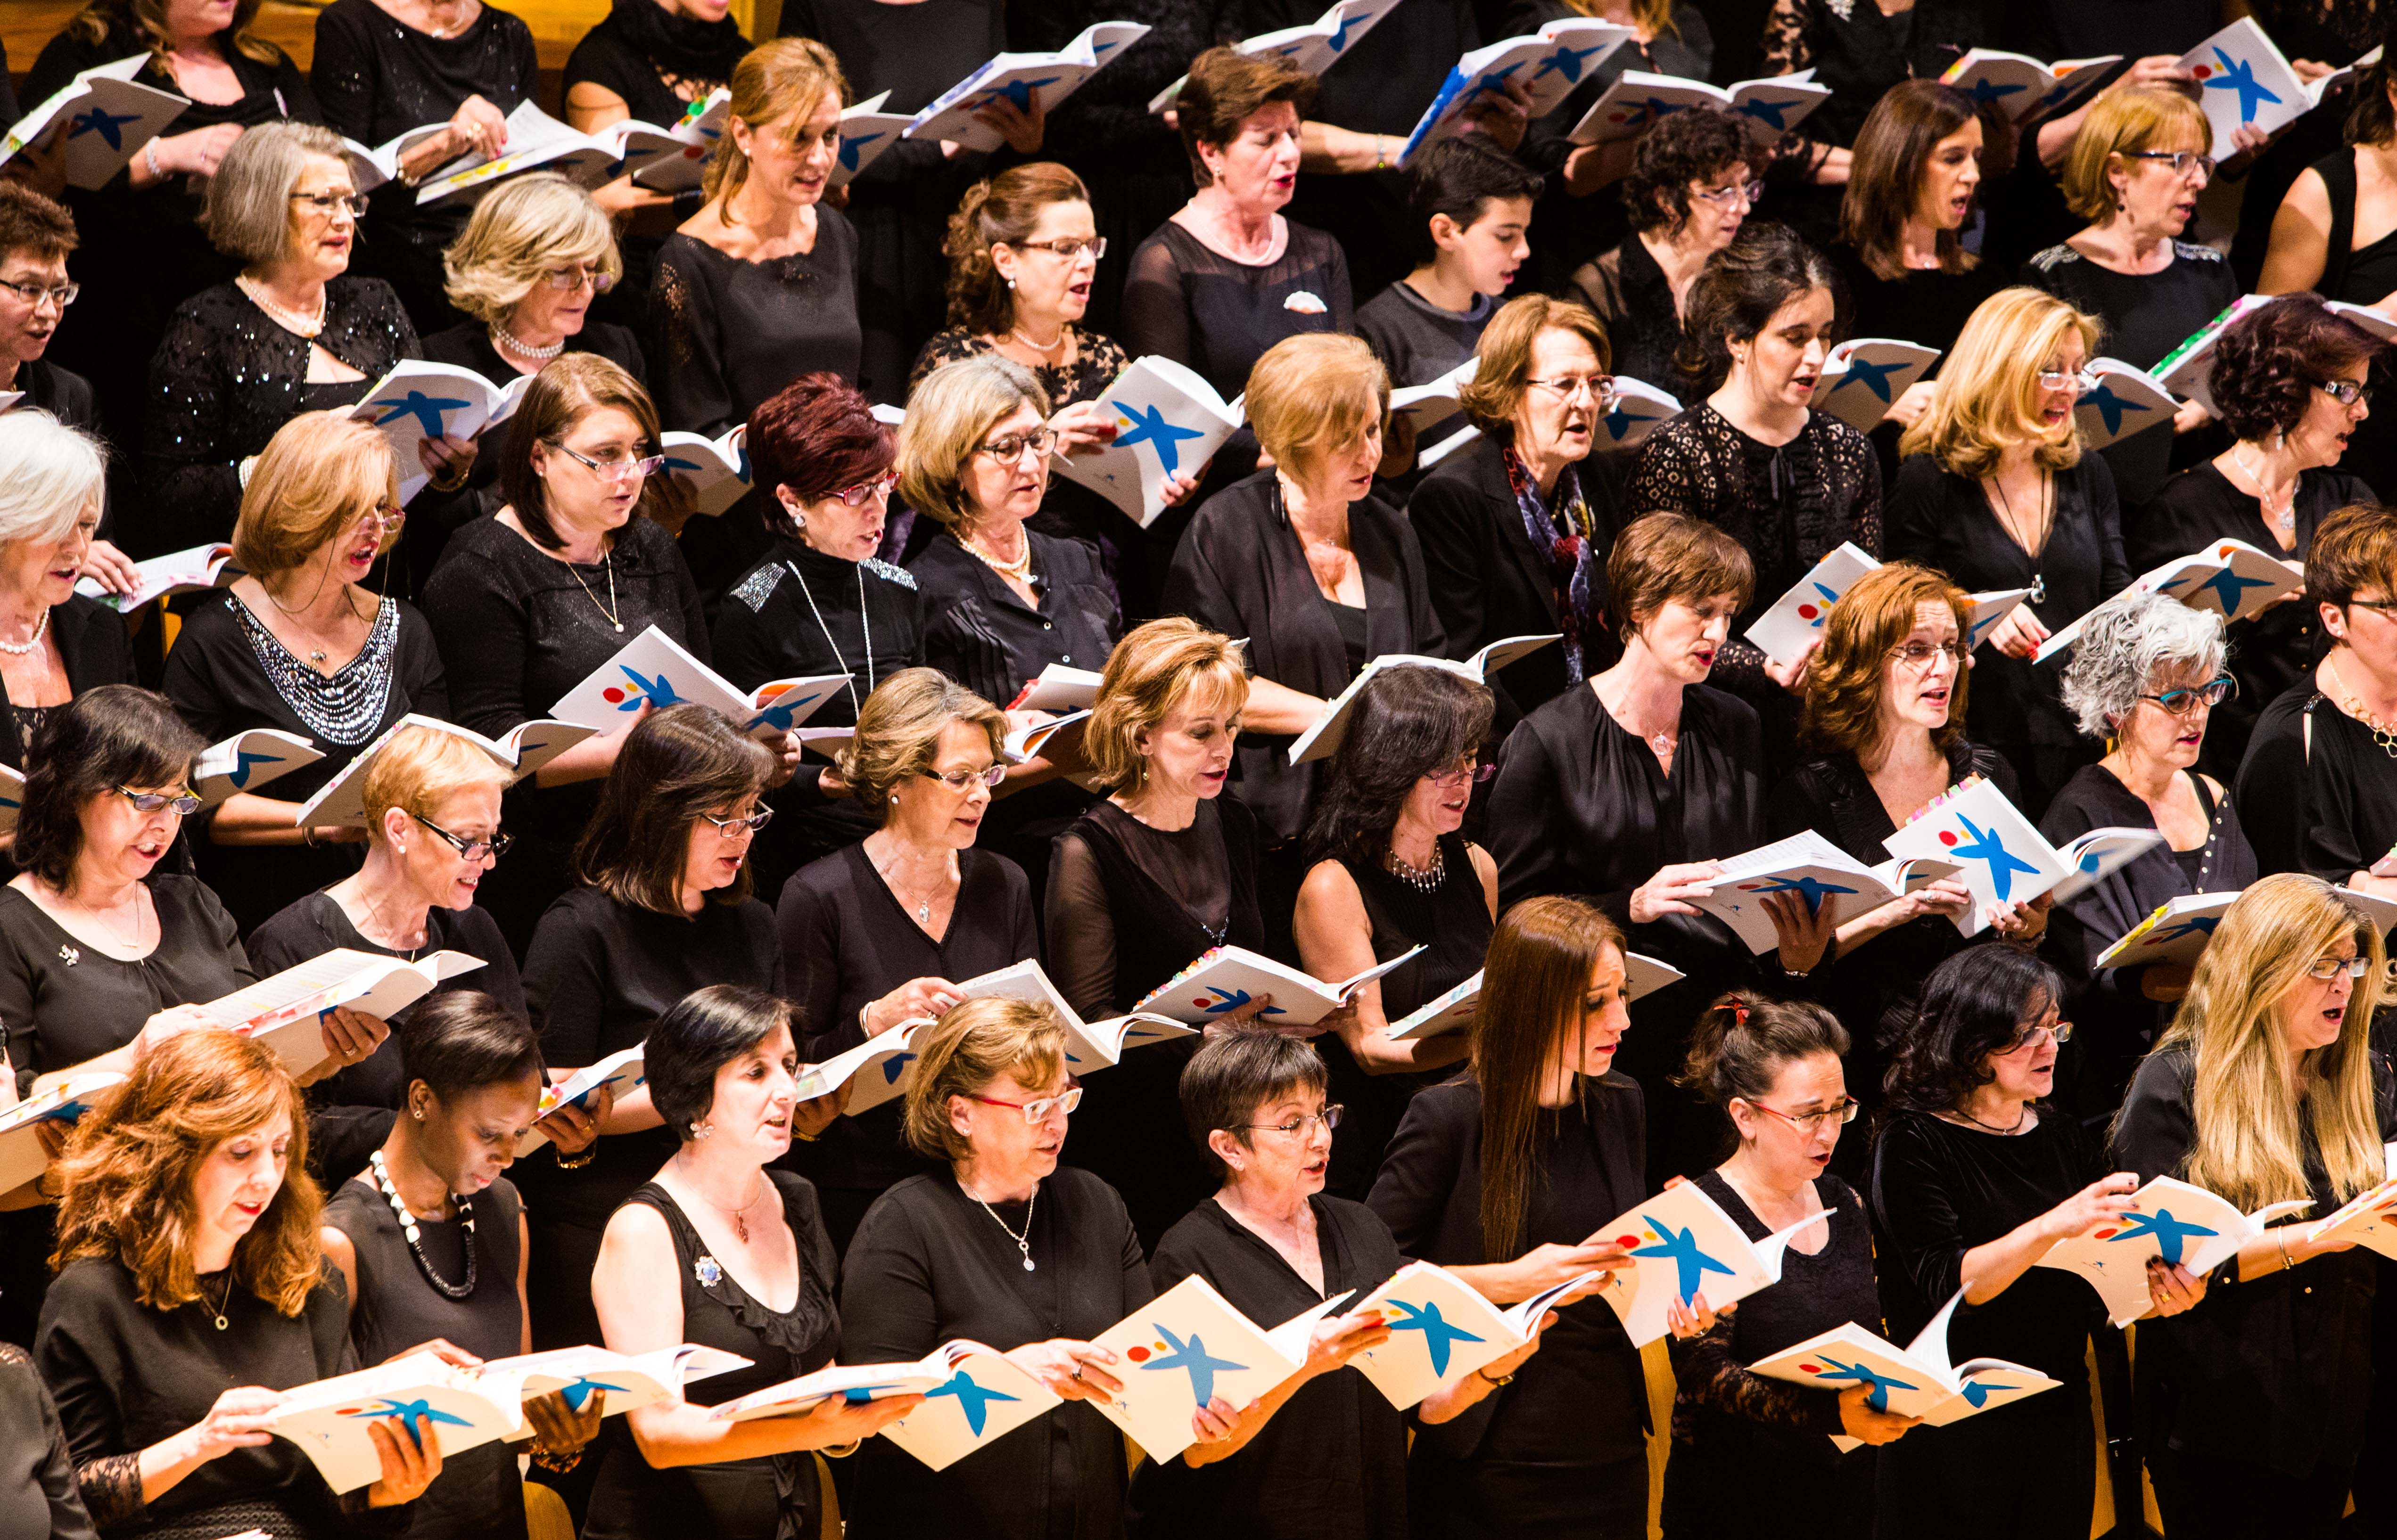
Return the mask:
<svg viewBox="0 0 2397 1540"><path fill-rule="evenodd" d="M2373 1396L2373 1277L2351 1241L2306 1238L2385 1174L2397 1085L2373 1051L2380 927L2320 877L2265 877L2222 915L2172 1030L2138 1066L2114 1157L2244 1212L2306 1200L2141 1334L2148 1471L2172 1535L2339 1530Z"/></svg>

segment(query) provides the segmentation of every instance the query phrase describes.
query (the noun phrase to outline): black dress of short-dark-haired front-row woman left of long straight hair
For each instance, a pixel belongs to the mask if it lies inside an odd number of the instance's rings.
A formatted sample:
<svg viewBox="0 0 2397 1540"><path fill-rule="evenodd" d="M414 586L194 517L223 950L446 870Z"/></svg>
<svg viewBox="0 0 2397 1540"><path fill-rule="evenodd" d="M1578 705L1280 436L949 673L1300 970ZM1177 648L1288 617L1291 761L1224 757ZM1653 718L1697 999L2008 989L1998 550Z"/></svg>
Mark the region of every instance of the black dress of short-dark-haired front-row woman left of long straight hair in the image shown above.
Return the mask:
<svg viewBox="0 0 2397 1540"><path fill-rule="evenodd" d="M1318 1195L1309 1207L1323 1293L1213 1198L1165 1233L1148 1279L1165 1291L1198 1274L1234 1310L1278 1327L1407 1265L1361 1202ZM1357 1370L1333 1370L1299 1387L1232 1459L1196 1471L1179 1459L1141 1463L1131 1509L1141 1540L1407 1540L1407 1413Z"/></svg>

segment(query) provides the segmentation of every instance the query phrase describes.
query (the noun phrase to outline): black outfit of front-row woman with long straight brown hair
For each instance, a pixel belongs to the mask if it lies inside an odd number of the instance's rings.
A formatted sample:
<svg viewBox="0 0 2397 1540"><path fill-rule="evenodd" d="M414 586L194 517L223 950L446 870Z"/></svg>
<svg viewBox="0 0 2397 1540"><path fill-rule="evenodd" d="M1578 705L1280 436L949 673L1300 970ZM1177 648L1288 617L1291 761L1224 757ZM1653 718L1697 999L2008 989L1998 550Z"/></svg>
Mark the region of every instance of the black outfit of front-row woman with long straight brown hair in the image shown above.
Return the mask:
<svg viewBox="0 0 2397 1540"><path fill-rule="evenodd" d="M1539 1114L1522 1245L1505 1257L1481 1245L1481 1087L1467 1078L1419 1095L1371 1198L1397 1250L1443 1267L1505 1262L1551 1241L1580 1245L1640 1202L1640 1085L1613 1071L1577 1085L1572 1107ZM1640 1535L1647 1420L1647 1380L1623 1322L1599 1300L1570 1305L1513 1384L1417 1432L1414 1533Z"/></svg>

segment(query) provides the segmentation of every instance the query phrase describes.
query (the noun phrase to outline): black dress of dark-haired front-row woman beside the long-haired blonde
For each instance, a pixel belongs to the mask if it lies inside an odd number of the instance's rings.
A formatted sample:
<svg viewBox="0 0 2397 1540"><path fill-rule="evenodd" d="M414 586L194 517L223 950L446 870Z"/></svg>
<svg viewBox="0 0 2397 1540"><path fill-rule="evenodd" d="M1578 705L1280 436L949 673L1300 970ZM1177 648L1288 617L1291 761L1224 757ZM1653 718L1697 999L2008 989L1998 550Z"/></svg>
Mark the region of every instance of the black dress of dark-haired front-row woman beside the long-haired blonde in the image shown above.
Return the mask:
<svg viewBox="0 0 2397 1540"><path fill-rule="evenodd" d="M1872 1150L1872 1238L1889 1267L1889 1339L1913 1341L1963 1286L1963 1255L1997 1241L2107 1174L2081 1126L2040 1109L2004 1138L1901 1111ZM2097 1293L2069 1272L2030 1267L1949 1322L1949 1360L2004 1358L2057 1389L1949 1427L1915 1427L1882 1451L1882 1514L1915 1535L2013 1540L2078 1535L2097 1490L2088 1348ZM2141 1334L2145 1346L2145 1334Z"/></svg>

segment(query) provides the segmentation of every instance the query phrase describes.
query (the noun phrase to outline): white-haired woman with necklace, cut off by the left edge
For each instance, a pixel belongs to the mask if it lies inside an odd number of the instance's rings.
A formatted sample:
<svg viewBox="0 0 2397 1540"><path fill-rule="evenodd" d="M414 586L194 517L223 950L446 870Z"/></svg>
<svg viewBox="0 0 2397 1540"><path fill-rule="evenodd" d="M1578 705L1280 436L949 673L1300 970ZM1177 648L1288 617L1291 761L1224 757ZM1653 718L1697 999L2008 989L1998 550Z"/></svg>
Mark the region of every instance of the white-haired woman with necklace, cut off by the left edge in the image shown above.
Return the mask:
<svg viewBox="0 0 2397 1540"><path fill-rule="evenodd" d="M74 592L105 474L89 433L48 412L0 414L0 764L29 769L48 711L134 678L125 620Z"/></svg>

